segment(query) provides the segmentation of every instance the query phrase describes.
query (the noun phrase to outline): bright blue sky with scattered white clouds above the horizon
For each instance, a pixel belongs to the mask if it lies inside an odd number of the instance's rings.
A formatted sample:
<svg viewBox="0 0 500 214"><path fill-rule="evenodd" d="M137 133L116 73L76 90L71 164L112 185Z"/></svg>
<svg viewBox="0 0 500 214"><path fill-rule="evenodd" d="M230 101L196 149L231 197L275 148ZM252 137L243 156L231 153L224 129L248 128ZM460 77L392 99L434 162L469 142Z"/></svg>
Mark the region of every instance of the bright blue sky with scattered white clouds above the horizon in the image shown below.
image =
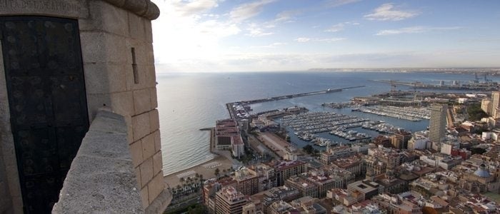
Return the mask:
<svg viewBox="0 0 500 214"><path fill-rule="evenodd" d="M156 72L500 66L500 1L151 0Z"/></svg>

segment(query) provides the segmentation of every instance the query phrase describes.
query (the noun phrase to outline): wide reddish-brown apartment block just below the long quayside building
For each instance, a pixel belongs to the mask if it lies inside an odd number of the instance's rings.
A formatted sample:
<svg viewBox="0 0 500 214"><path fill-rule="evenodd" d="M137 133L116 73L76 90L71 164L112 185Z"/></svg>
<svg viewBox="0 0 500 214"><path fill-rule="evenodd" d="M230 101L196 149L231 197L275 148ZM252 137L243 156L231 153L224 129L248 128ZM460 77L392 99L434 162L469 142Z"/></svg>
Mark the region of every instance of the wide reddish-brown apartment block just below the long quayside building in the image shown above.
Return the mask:
<svg viewBox="0 0 500 214"><path fill-rule="evenodd" d="M266 164L274 168L277 186L284 185L285 180L292 175L299 175L307 171L307 164L304 161L271 161Z"/></svg>

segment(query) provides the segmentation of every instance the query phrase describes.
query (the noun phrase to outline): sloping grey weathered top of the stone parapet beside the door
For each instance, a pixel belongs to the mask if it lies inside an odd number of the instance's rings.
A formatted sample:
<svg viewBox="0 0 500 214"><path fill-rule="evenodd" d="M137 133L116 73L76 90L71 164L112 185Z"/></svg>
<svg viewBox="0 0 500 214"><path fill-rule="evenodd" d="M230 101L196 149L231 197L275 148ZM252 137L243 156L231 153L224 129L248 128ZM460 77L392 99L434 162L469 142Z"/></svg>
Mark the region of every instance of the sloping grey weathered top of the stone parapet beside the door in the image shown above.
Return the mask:
<svg viewBox="0 0 500 214"><path fill-rule="evenodd" d="M102 141L96 142L99 138ZM53 213L144 213L137 187L124 118L99 111L71 163Z"/></svg>

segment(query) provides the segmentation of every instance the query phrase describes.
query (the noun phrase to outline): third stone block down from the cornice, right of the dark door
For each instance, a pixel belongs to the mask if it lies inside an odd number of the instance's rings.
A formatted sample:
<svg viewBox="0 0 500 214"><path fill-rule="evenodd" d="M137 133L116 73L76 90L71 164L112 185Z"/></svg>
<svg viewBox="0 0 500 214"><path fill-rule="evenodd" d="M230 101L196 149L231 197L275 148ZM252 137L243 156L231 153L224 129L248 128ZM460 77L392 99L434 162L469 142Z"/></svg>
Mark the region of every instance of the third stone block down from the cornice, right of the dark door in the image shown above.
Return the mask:
<svg viewBox="0 0 500 214"><path fill-rule="evenodd" d="M84 63L86 93L126 91L122 65L115 63Z"/></svg>

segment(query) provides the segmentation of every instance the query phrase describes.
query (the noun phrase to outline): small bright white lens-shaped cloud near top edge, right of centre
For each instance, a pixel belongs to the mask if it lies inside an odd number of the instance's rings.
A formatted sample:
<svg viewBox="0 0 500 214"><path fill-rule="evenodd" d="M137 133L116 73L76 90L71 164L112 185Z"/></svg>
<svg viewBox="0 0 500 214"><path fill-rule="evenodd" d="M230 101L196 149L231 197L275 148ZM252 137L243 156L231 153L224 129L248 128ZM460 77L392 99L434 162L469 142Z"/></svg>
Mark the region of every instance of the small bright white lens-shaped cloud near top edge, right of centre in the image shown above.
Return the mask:
<svg viewBox="0 0 500 214"><path fill-rule="evenodd" d="M374 9L373 13L364 15L364 18L378 21L400 21L417 15L419 12L396 10L393 4L387 3Z"/></svg>

